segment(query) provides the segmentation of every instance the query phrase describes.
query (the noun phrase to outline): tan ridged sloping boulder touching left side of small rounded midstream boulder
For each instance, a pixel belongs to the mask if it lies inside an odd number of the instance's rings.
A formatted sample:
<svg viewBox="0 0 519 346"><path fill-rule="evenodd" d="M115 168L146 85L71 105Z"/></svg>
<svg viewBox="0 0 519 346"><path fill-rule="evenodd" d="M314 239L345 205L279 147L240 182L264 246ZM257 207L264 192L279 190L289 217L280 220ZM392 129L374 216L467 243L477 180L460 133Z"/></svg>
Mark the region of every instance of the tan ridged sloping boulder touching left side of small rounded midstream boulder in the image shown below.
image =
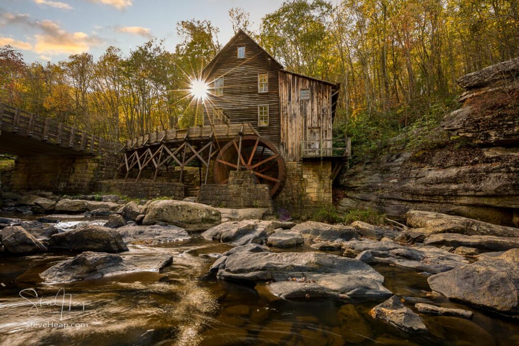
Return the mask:
<svg viewBox="0 0 519 346"><path fill-rule="evenodd" d="M236 245L263 244L280 224L263 220L229 221L208 229L202 237Z"/></svg>

